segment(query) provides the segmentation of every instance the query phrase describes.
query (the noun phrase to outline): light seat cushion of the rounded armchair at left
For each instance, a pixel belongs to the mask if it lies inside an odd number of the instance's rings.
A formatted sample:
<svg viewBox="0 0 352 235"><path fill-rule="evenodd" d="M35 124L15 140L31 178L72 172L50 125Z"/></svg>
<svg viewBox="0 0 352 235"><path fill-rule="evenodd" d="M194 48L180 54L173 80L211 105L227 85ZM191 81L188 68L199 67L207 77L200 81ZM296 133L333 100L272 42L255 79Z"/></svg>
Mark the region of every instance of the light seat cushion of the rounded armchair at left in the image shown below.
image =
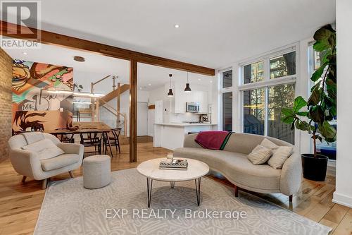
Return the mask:
<svg viewBox="0 0 352 235"><path fill-rule="evenodd" d="M49 159L43 159L40 161L42 164L43 171L52 171L54 169L59 169L62 167L67 167L70 164L74 164L80 160L79 155L75 154L63 154L57 157L52 157Z"/></svg>

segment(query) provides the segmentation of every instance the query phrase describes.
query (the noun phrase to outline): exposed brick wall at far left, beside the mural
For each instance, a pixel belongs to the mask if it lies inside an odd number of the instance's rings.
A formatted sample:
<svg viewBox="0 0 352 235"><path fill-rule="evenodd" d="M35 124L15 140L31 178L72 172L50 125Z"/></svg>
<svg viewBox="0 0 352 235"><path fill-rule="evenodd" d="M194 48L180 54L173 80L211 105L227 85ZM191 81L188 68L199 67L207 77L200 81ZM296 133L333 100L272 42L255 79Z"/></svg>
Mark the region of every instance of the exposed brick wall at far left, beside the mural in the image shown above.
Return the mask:
<svg viewBox="0 0 352 235"><path fill-rule="evenodd" d="M0 162L8 157L7 141L11 137L12 59L0 48Z"/></svg>

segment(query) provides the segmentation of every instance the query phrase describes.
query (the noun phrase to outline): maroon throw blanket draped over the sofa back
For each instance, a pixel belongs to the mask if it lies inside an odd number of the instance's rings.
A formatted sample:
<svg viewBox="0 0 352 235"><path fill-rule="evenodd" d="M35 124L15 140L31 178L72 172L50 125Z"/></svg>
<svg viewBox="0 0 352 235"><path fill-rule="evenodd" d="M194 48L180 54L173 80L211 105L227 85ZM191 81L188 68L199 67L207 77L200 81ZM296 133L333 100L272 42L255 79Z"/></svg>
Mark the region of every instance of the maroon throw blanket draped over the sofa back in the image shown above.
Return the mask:
<svg viewBox="0 0 352 235"><path fill-rule="evenodd" d="M194 141L209 150L223 150L232 132L201 131Z"/></svg>

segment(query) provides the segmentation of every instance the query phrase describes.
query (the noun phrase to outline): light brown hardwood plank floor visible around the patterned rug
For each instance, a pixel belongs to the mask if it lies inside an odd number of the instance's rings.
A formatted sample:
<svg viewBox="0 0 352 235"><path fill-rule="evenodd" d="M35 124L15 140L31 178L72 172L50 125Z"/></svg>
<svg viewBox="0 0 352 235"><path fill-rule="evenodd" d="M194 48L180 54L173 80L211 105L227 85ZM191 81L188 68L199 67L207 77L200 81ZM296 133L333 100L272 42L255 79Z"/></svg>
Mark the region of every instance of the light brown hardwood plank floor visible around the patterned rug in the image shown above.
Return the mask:
<svg viewBox="0 0 352 235"><path fill-rule="evenodd" d="M139 143L137 148L138 162L129 162L128 145L121 146L121 155L113 157L111 169L129 169L137 167L147 159L164 157L170 150L152 147L152 143ZM73 171L75 176L82 175L82 170ZM53 180L67 179L70 175L62 174ZM220 174L212 173L208 176L229 186L232 184ZM22 176L18 175L7 159L0 163L0 234L32 234L42 205L45 191L42 182L27 179L21 183ZM315 222L320 222L334 230L334 235L352 234L352 208L332 203L332 193L335 188L333 176L327 176L325 182L303 180L300 191L294 195L293 203L289 204L289 197L280 193L253 193L292 210ZM239 197L241 189L239 190Z"/></svg>

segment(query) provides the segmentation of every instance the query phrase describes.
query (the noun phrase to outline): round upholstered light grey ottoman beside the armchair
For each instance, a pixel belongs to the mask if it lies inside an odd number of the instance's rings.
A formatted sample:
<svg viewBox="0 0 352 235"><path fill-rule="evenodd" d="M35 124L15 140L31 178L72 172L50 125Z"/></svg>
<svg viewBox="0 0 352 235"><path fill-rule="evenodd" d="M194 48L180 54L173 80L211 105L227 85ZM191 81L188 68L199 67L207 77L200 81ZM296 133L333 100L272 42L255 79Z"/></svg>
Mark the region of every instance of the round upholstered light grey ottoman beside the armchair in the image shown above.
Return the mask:
<svg viewBox="0 0 352 235"><path fill-rule="evenodd" d="M84 188L103 188L111 181L110 157L94 155L83 159Z"/></svg>

